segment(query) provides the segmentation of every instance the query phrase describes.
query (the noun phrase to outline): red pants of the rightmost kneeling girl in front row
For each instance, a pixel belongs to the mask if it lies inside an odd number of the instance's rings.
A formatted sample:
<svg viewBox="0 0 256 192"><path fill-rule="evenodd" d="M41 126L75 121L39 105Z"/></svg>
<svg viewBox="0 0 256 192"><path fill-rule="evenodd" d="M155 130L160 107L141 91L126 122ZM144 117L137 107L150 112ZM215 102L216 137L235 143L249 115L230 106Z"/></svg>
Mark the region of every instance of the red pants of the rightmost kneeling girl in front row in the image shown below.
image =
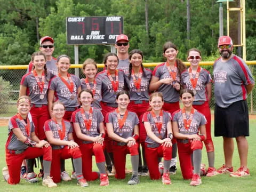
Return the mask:
<svg viewBox="0 0 256 192"><path fill-rule="evenodd" d="M202 148L202 141L189 141L188 143L178 142L180 168L183 179L191 179L193 177L193 165L191 163L191 154L193 154L194 150Z"/></svg>

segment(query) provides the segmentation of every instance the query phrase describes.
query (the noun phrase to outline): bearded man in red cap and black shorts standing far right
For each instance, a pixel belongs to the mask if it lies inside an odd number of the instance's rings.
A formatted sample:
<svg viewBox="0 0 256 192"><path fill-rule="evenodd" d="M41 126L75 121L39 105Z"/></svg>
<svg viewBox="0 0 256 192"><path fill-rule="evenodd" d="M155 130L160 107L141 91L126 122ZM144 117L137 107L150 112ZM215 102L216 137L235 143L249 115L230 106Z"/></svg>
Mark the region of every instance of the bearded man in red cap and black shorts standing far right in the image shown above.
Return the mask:
<svg viewBox="0 0 256 192"><path fill-rule="evenodd" d="M251 71L243 59L233 54L233 42L229 36L221 36L218 43L221 57L214 62L214 134L223 137L225 164L217 172L230 173L231 177L250 175L247 168L249 115L247 94L254 86ZM236 139L240 167L233 172L232 157Z"/></svg>

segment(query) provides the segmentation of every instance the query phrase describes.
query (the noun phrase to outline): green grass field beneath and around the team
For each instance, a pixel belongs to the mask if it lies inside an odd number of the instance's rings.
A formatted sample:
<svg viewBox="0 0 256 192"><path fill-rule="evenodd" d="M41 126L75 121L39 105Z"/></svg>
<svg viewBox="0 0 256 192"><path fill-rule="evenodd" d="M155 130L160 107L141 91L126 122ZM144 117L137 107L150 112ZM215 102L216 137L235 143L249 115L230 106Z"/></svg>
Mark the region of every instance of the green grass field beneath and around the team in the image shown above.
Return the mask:
<svg viewBox="0 0 256 192"><path fill-rule="evenodd" d="M212 126L213 127L213 126ZM0 179L0 191L256 191L256 119L250 120L250 134L249 141L249 157L248 166L250 168L250 177L245 178L231 178L229 175L217 175L212 178L202 177L202 185L198 187L189 186L188 180L183 180L178 164L177 174L171 176L172 185L164 186L161 180L152 181L149 177L140 177L140 183L137 186L128 186L126 183L131 175L127 175L125 180L116 180L114 177L109 178L110 185L107 187L100 187L99 180L89 182L89 187L82 188L76 185L76 180L70 182L58 183L57 188L46 188L42 186L42 180L39 183L30 184L21 180L19 185L8 185L3 177ZM5 163L5 141L7 138L7 127L0 126L0 168L6 166ZM213 138L215 146L215 166L220 167L223 162L222 138ZM203 149L202 163L207 165L207 157L205 148ZM127 167L131 169L130 156L127 156ZM235 148L233 158L234 169L239 167L239 158L237 148ZM35 169L38 173L38 169ZM71 173L71 162L66 161L66 170ZM97 167L94 166L97 171Z"/></svg>

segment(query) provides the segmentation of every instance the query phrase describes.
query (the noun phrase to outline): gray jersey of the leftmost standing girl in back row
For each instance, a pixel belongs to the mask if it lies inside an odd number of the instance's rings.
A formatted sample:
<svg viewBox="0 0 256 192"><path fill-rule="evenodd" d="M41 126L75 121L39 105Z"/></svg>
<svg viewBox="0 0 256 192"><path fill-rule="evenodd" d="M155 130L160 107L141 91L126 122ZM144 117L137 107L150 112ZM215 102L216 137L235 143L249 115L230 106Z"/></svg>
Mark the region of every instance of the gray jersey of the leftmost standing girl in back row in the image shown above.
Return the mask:
<svg viewBox="0 0 256 192"><path fill-rule="evenodd" d="M38 77L38 78L39 78L39 81L41 82L42 78L41 77ZM48 103L47 91L49 86L49 81L47 81L47 79L45 79L44 81L44 88L42 92L32 72L26 75L23 75L20 84L27 87L26 95L30 97L32 104L47 105ZM40 99L40 97L42 98L42 95L43 95L43 99Z"/></svg>

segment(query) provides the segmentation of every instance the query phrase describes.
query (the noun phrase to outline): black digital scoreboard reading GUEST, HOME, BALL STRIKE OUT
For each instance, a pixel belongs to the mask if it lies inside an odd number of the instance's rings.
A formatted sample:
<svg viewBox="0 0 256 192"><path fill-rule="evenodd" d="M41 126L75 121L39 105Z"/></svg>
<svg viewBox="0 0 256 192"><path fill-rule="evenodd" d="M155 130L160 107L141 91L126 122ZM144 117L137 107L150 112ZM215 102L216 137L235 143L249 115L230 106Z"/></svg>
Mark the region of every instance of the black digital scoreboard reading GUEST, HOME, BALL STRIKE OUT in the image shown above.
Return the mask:
<svg viewBox="0 0 256 192"><path fill-rule="evenodd" d="M123 17L67 17L67 44L115 44L123 34Z"/></svg>

